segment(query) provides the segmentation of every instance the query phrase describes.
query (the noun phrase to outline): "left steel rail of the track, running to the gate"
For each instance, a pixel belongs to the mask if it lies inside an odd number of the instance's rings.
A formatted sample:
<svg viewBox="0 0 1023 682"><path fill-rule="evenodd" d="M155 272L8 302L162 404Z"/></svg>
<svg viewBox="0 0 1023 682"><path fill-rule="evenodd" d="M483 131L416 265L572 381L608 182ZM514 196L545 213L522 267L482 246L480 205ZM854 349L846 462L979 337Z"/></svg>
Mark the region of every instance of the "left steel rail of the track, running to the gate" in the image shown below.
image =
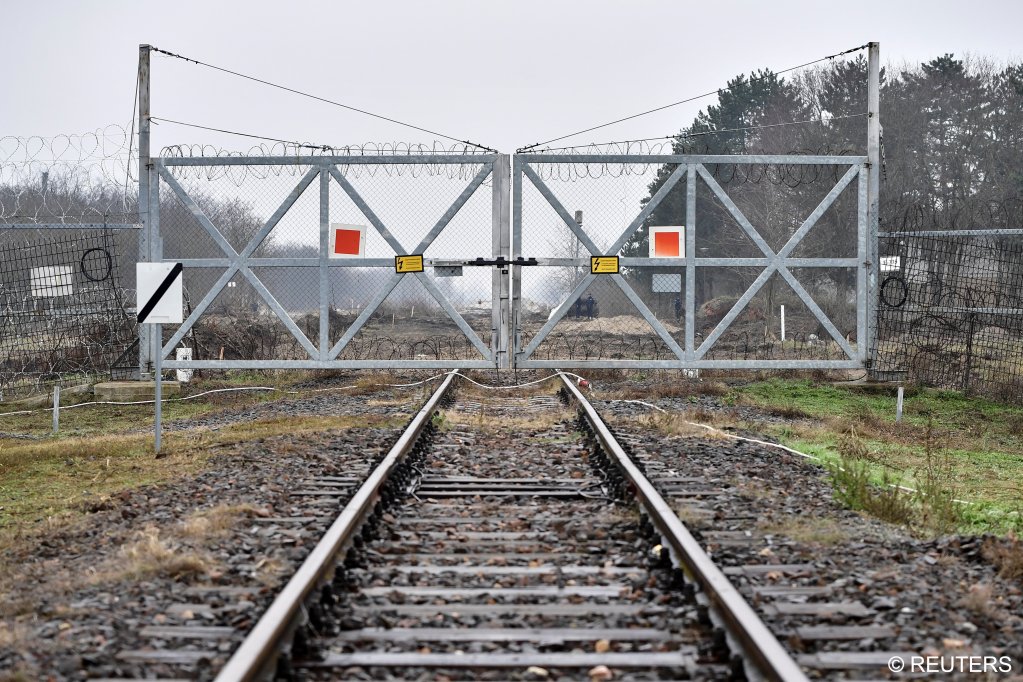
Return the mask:
<svg viewBox="0 0 1023 682"><path fill-rule="evenodd" d="M351 501L345 505L295 576L277 594L270 607L221 669L216 682L248 682L262 679L268 672L279 653L281 641L297 624L306 598L329 575L336 565L338 554L373 509L384 484L415 445L455 376L454 372L450 372L422 409L412 418L398 442L352 496Z"/></svg>

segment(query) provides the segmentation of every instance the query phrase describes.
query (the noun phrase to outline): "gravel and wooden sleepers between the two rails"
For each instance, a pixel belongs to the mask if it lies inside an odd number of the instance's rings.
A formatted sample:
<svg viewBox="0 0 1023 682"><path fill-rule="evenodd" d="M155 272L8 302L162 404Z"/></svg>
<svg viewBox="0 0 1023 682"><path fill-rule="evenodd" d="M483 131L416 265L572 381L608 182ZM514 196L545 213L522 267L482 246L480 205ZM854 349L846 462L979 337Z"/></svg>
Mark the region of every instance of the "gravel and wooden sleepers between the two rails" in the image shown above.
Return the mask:
<svg viewBox="0 0 1023 682"><path fill-rule="evenodd" d="M446 412L444 426L418 466L421 488L389 510L377 528L377 539L350 553L346 582L335 583L341 589L333 609L335 632L348 637L323 637L318 644L339 654L475 654L484 656L482 667L345 667L316 679L589 679L603 672L590 666L527 670L525 658L594 651L638 656L677 651L692 662L687 672L612 667L607 673L615 679L676 679L679 674L727 679L727 654L722 657L715 648L692 598L671 589L671 572L653 567L651 548L657 541L639 529L636 510L609 504L604 497L602 479L590 468L573 413L554 397L459 399ZM589 499L472 492L477 487L506 490L516 481L550 482L546 485L583 491ZM433 492L447 493L459 486L473 488L455 497ZM579 565L593 571L577 575ZM494 570L501 573L488 572ZM448 589L456 594L436 592ZM537 591L542 594L534 594ZM557 610L566 606L591 612ZM635 612L613 610L629 607ZM440 628L445 633L468 630L470 635L480 629L648 628L671 633L671 638L663 642L599 642L598 636L564 642L352 641L351 631L361 628ZM487 657L513 653L524 656L521 666L486 667Z"/></svg>

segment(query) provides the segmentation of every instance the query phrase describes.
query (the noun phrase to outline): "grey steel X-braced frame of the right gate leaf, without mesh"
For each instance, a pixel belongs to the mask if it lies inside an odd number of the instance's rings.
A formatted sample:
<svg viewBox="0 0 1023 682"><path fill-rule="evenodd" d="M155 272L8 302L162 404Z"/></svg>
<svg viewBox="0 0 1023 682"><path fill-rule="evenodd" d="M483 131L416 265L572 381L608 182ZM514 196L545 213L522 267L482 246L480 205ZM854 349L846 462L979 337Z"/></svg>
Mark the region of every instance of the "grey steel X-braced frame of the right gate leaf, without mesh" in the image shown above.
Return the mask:
<svg viewBox="0 0 1023 682"><path fill-rule="evenodd" d="M533 168L536 164L677 164L674 172L668 177L660 189L651 197L642 211L625 227L621 236L604 253L597 248L582 227L554 196L550 188L543 182ZM774 252L764 241L756 228L743 215L731 198L714 180L705 164L785 164L785 165L829 165L849 166L849 169L832 187L829 193L806 218L799 229L789 238L786 244ZM868 156L833 156L833 155L793 155L793 154L755 154L755 155L720 155L720 154L516 154L513 165L513 242L514 257L519 259L522 254L522 188L523 178L539 190L547 203L558 213L564 223L579 239L579 242L589 251L589 255L580 259L537 259L540 266L583 266L589 263L589 256L617 256L629 238L643 226L647 219L660 202L668 195L682 178L686 184L686 216L685 216L685 257L681 259L656 259L641 257L620 257L619 262L625 267L685 267L685 345L684 348L671 337L654 313L640 300L639 295L620 274L596 275L587 274L576 284L568 298L554 309L547 322L533 336L529 345L523 348L521 339L521 304L522 304L522 271L516 269L513 274L513 327L515 329L514 353L517 368L558 368L558 367L615 367L615 368L673 368L673 369L861 369L868 366L870 360L869 334L871 310L873 309L871 291L875 286L876 274L873 262L873 246L875 239L871 238L869 225L869 168ZM743 232L750 237L763 253L763 258L696 258L696 189L697 178L702 178L713 194L721 201L725 210L732 216ZM791 254L809 230L816 224L838 198L839 194L852 181L857 182L857 252L854 258L792 258ZM875 232L876 233L876 232ZM698 347L696 345L696 269L698 267L727 266L762 266L763 271L749 286L746 292L736 302L732 308L717 324L714 331ZM799 268L856 268L856 349L835 327L824 311L813 301L803 285L789 271L790 267ZM777 272L792 287L797 297L813 314L818 322L828 330L839 348L846 354L844 360L706 360L707 352L727 330L729 325L742 314L754 295L767 282L770 276ZM538 360L532 355L543 343L571 309L578 299L597 277L611 277L621 291L632 302L642 318L653 327L657 335L674 354L675 360Z"/></svg>

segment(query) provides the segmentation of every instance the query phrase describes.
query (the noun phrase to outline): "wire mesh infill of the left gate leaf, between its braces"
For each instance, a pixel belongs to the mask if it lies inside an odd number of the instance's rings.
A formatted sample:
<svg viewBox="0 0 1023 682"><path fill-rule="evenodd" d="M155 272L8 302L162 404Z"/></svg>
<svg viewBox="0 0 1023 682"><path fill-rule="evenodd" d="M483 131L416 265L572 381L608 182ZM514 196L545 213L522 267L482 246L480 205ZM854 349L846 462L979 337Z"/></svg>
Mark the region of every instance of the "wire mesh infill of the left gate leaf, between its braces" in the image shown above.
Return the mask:
<svg viewBox="0 0 1023 682"><path fill-rule="evenodd" d="M235 274L181 338L181 345L194 348L193 359L308 360L319 351L324 302L327 348L344 342L339 360L483 359L478 345L491 343L491 269L462 267L458 271L435 265L491 257L489 179L471 193L425 249L417 247L474 178L481 172L489 174L489 165L466 155L463 164L424 160L394 168L324 166L335 168L350 185L346 189L329 176L325 197L319 166L168 168L183 192L238 253L313 169L301 196L251 255L250 272L258 283ZM183 197L166 180L161 185L164 259L226 259ZM329 260L325 298L321 297L319 263L321 198L326 199L331 226L364 230L361 258L376 261L353 265L345 259ZM388 238L376 229L377 222ZM394 257L418 254L426 259L426 272L398 277ZM224 266L196 266L193 263L184 272L186 315L203 303L225 271ZM261 287L272 301L261 294ZM478 344L452 319L452 310L469 325ZM170 334L175 329L169 325Z"/></svg>

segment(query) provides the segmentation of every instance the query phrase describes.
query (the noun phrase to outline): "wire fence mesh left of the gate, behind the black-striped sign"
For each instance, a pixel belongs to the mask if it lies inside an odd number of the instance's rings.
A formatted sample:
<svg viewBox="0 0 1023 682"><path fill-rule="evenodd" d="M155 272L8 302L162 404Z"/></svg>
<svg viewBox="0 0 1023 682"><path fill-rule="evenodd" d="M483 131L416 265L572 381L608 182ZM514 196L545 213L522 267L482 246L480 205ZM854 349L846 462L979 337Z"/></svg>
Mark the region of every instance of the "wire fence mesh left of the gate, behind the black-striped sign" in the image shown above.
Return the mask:
<svg viewBox="0 0 1023 682"><path fill-rule="evenodd" d="M135 339L121 259L133 230L0 234L0 392L39 392L115 368ZM137 365L137 363L136 363Z"/></svg>

